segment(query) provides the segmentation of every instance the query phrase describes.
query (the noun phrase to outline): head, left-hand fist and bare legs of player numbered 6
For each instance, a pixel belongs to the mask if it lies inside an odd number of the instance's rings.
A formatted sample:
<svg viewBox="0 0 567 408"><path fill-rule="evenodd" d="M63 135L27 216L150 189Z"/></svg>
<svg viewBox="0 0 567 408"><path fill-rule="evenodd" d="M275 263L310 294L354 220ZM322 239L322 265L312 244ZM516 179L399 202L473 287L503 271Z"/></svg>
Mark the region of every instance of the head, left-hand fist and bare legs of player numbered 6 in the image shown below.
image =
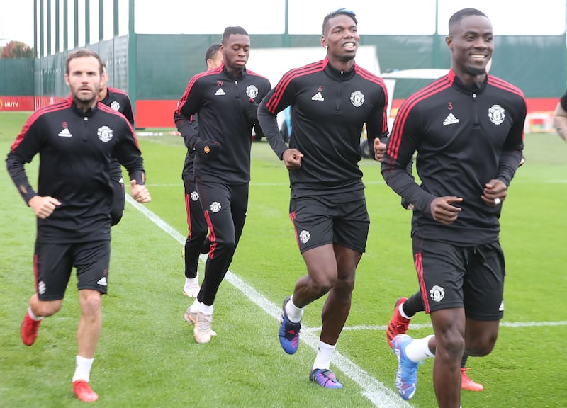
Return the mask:
<svg viewBox="0 0 567 408"><path fill-rule="evenodd" d="M354 65L359 45L359 35L354 20L345 15L331 18L321 37L321 45L327 47L327 58L335 69L348 70ZM301 167L298 149L286 149L283 162L287 169ZM323 305L320 340L337 344L344 323L349 316L354 277L362 254L338 244L326 244L303 252L308 274L299 278L293 291L293 303L305 307L327 294Z"/></svg>

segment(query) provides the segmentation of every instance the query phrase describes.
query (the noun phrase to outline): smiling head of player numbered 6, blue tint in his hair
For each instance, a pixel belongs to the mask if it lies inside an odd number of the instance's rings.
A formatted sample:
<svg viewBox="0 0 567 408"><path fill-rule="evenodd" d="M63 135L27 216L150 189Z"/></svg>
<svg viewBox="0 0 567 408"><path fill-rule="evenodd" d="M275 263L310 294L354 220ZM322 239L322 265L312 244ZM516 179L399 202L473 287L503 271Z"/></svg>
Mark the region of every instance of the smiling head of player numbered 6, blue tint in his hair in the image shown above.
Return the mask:
<svg viewBox="0 0 567 408"><path fill-rule="evenodd" d="M330 62L354 64L359 47L357 23L347 14L330 18L321 37L321 45L327 47Z"/></svg>

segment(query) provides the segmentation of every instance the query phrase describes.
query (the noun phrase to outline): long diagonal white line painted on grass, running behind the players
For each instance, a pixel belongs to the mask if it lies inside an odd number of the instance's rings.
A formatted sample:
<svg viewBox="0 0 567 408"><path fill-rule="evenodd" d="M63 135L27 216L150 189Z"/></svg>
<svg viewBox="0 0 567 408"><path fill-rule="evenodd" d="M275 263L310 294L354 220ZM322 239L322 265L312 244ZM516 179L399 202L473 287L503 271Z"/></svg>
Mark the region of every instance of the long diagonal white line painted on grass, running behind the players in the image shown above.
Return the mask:
<svg viewBox="0 0 567 408"><path fill-rule="evenodd" d="M144 205L137 203L128 194L126 194L126 200L128 201L128 203L132 204L134 208L142 212L143 215L148 217L150 221L152 221L155 225L167 232L167 234L173 237L177 242L179 242L179 244L183 244L185 242L186 237L179 234L179 232L173 229L169 224L167 224L167 222L162 220L162 218L160 218L154 212L145 208ZM258 305L262 310L264 310L264 312L269 314L271 317L274 317L274 319L279 320L281 307L274 305L274 303L270 302L268 299L266 299L266 297L264 297L264 295L252 288L252 286L245 283L245 281L240 279L234 273L228 271L226 273L225 279L228 280L228 282L230 282L232 285L234 285L235 288L244 293L244 295L248 297L249 300L252 300L252 302ZM305 344L308 344L308 346L313 348L313 350L317 350L319 339L318 336L312 333L312 329L308 327L302 327L301 341ZM390 390L388 387L386 387L386 385L383 385L382 382L376 380L376 378L366 373L365 370L354 364L348 358L344 357L338 351L335 351L335 353L333 353L332 363L335 364L337 368L339 368L339 370L341 370L354 382L357 382L357 384L362 388L362 395L368 398L370 402L372 402L376 407L411 407L408 402L400 399L398 394Z"/></svg>

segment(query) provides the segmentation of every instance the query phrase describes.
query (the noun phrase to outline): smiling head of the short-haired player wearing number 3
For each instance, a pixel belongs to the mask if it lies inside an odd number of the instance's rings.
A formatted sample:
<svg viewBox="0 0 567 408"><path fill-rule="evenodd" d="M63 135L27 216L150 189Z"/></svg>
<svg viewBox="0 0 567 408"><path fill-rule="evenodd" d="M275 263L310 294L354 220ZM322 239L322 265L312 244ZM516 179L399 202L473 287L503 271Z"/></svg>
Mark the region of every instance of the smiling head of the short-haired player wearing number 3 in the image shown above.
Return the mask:
<svg viewBox="0 0 567 408"><path fill-rule="evenodd" d="M494 50L490 20L485 16L466 16L450 27L445 41L457 77L468 84L482 81Z"/></svg>

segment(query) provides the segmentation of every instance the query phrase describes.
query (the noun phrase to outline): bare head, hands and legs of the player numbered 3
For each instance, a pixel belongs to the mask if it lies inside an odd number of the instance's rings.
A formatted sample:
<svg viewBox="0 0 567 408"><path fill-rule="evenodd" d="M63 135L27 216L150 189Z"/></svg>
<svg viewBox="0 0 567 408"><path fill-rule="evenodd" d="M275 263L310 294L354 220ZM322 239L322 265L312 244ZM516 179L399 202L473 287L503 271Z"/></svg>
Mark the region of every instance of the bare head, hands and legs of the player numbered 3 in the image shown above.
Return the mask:
<svg viewBox="0 0 567 408"><path fill-rule="evenodd" d="M486 64L493 52L492 25L484 16L467 16L449 28L445 39L451 50L451 68L465 84L481 82L486 76ZM500 180L489 180L481 198L486 205L495 206L495 198L503 201L506 186ZM455 196L435 198L431 205L434 220L451 225L461 208ZM500 322L467 319L463 307L437 310L431 313L435 336L429 341L435 353L433 382L439 408L458 408L461 404L461 356L485 356L492 351L498 338Z"/></svg>

